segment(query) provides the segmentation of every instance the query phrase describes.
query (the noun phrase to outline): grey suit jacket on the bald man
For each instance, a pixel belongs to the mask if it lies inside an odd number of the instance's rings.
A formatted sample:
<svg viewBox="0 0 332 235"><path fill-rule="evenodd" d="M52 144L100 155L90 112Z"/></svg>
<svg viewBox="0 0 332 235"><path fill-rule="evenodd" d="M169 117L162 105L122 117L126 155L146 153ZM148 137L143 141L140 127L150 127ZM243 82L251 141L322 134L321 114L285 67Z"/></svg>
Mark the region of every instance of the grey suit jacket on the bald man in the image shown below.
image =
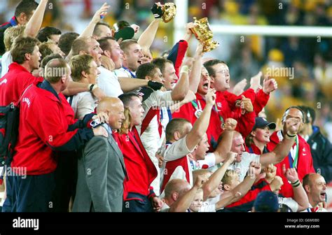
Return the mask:
<svg viewBox="0 0 332 235"><path fill-rule="evenodd" d="M93 137L78 159L74 212L122 212L123 154L113 136Z"/></svg>

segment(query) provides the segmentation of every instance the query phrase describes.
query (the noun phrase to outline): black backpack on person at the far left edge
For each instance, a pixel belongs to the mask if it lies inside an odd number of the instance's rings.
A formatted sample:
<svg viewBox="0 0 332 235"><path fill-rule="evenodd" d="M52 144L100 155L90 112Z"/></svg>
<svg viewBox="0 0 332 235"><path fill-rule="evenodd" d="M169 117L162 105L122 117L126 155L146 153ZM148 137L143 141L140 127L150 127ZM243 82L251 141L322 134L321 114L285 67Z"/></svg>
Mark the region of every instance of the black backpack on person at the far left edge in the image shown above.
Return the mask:
<svg viewBox="0 0 332 235"><path fill-rule="evenodd" d="M9 166L13 160L14 148L18 141L20 101L29 87L25 89L16 104L12 102L8 106L0 106L0 166Z"/></svg>

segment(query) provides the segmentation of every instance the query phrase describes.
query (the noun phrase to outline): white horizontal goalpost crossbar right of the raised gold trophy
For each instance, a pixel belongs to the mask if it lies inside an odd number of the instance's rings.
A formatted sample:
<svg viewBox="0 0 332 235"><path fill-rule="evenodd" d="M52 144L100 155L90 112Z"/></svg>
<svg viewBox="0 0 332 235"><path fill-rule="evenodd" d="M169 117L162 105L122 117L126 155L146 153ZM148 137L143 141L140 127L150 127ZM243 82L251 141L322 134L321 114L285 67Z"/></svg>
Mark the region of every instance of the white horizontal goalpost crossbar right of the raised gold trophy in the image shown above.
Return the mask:
<svg viewBox="0 0 332 235"><path fill-rule="evenodd" d="M214 34L332 37L331 27L211 24Z"/></svg>

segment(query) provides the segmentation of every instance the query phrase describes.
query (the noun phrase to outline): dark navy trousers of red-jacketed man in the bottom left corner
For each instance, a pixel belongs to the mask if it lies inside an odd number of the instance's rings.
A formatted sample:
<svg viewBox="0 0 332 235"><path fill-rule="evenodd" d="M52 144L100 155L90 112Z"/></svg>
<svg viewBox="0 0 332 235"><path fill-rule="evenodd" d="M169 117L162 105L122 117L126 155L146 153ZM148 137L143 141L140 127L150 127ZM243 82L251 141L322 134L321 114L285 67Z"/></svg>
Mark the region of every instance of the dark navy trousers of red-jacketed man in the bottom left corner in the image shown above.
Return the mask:
<svg viewBox="0 0 332 235"><path fill-rule="evenodd" d="M54 173L7 176L3 212L48 212L53 206Z"/></svg>

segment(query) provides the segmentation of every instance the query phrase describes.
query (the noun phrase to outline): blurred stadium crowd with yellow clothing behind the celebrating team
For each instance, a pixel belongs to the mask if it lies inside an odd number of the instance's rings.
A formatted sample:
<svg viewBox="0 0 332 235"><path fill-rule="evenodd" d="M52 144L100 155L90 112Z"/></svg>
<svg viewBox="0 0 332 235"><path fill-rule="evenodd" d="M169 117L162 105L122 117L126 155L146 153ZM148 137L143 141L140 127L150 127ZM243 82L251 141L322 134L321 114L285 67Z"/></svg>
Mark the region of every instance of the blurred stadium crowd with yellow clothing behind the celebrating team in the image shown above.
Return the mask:
<svg viewBox="0 0 332 235"><path fill-rule="evenodd" d="M18 1L1 1L0 22L13 17L11 14ZM62 34L67 31L81 33L104 1L50 0L43 26L60 28ZM153 20L151 0L107 2L111 10L104 21L110 25L126 20L138 24L142 32ZM193 17L208 17L210 24L219 25L331 26L332 0L193 0L189 1L188 20ZM172 47L173 31L174 22L160 24L151 47L154 55ZM214 39L221 45L205 57L225 61L233 85L244 78L249 83L249 78L258 71L266 73L269 67L293 69L293 79L274 77L279 88L266 107L268 120L281 118L286 107L305 104L315 109L315 124L332 141L332 38L215 34ZM194 46L189 48L189 55L193 55Z"/></svg>

